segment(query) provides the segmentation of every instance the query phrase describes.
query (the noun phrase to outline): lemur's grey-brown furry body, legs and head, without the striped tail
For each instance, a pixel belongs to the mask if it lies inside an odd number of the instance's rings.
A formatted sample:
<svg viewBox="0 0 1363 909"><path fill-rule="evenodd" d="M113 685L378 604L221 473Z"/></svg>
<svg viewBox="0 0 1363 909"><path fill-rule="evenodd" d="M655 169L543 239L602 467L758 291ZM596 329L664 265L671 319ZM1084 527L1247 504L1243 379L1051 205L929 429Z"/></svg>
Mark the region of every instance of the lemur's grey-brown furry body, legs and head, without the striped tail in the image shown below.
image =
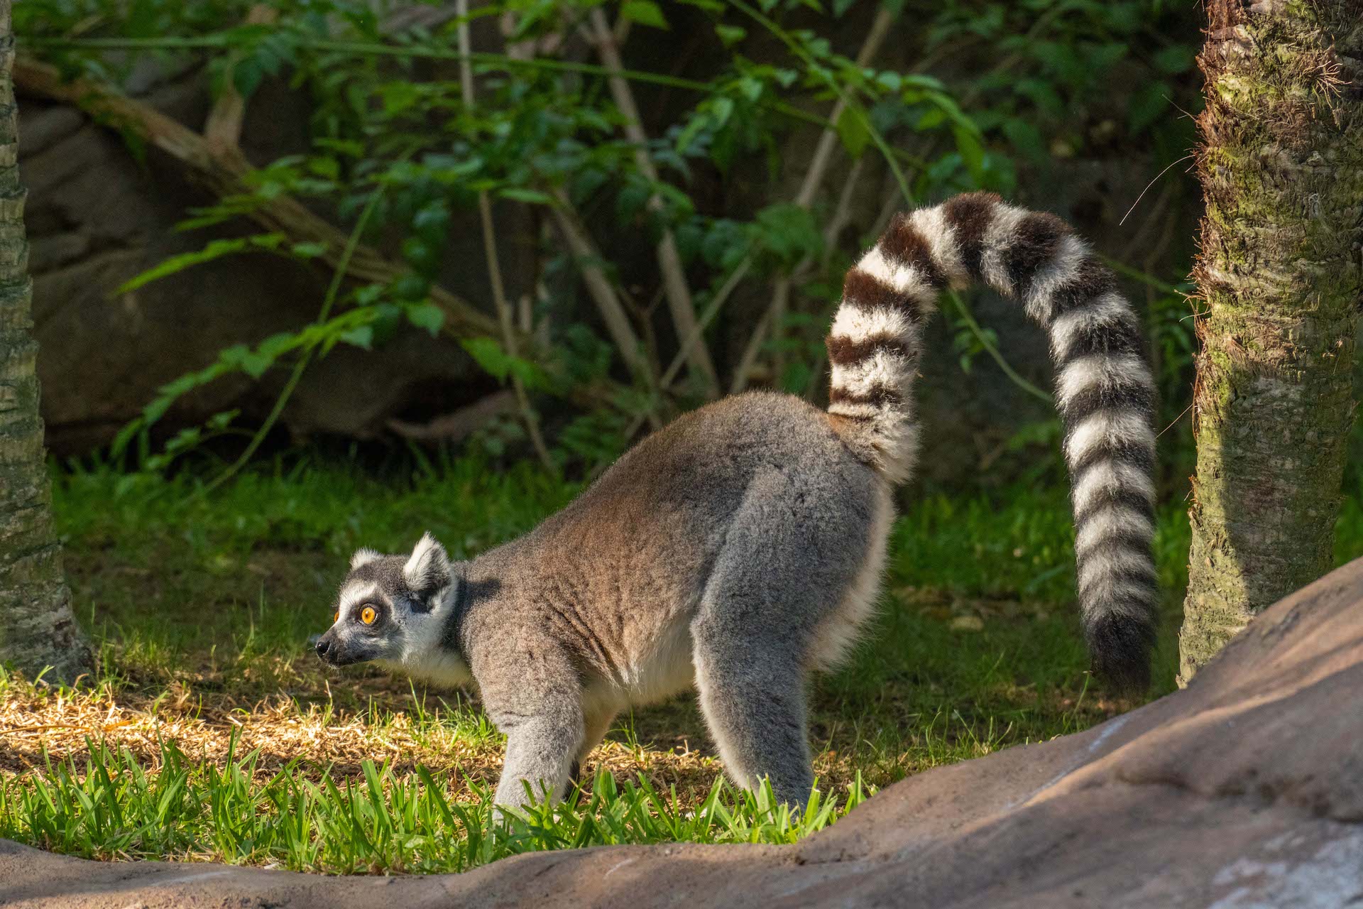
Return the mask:
<svg viewBox="0 0 1363 909"><path fill-rule="evenodd" d="M523 804L527 782L562 795L619 711L692 685L729 775L770 777L803 805L804 679L875 598L859 583L871 560L879 574L887 488L822 410L728 398L641 442L525 537L453 566L436 546L446 587L412 590L405 556L363 561L319 653L433 683L472 675L507 735L502 805ZM356 593L379 601L373 628Z"/></svg>

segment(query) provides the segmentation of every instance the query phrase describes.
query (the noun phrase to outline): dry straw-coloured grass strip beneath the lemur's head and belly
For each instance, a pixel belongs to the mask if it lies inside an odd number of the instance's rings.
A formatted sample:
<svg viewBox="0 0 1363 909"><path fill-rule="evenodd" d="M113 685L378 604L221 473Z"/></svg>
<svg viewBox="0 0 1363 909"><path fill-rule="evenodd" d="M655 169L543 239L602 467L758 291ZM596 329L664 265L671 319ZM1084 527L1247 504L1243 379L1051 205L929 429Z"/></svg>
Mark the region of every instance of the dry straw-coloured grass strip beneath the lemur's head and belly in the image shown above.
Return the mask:
<svg viewBox="0 0 1363 909"><path fill-rule="evenodd" d="M173 683L157 696L120 691L110 684L57 690L10 676L0 690L0 775L44 773L52 763L75 759L82 766L91 744L128 750L147 770L159 770L162 747L173 743L192 760L222 766L255 752L252 775L267 780L286 766L311 778L360 780L363 763L387 763L395 774L425 767L446 778L457 799L474 799L474 788L496 782L503 740L466 702L423 709L390 696L365 710L335 709L271 698L249 706L226 706L221 695L198 696ZM384 703L386 706L379 706ZM403 709L403 706L406 709ZM658 747L613 733L592 752L585 785L605 769L617 778L643 777L660 789L676 789L699 804L722 767L703 748L687 743ZM849 782L856 771L836 752L826 754L830 781Z"/></svg>

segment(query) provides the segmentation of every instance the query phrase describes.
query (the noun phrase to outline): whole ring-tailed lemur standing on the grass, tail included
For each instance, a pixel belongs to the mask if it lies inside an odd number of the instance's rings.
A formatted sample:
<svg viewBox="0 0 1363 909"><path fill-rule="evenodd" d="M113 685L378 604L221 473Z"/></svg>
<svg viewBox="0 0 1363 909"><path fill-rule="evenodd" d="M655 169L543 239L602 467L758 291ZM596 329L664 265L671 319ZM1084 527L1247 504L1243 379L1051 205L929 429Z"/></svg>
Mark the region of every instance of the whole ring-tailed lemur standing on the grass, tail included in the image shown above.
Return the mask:
<svg viewBox="0 0 1363 909"><path fill-rule="evenodd" d="M900 215L846 275L827 412L750 392L653 433L536 530L451 564L361 549L323 660L476 681L507 735L496 801L551 797L617 711L695 685L729 775L803 805L806 675L880 586L891 488L917 450L910 387L938 292L983 279L1051 335L1096 669L1148 684L1153 386L1112 274L1059 218L988 194Z"/></svg>

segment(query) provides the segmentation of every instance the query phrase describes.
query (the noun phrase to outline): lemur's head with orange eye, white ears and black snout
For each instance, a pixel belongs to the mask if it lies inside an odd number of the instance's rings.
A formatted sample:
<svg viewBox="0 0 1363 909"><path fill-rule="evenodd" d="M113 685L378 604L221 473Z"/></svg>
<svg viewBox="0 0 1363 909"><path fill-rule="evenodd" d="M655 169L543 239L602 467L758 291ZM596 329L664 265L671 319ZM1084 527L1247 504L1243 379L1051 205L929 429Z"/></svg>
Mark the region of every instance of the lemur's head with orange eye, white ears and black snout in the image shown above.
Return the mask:
<svg viewBox="0 0 1363 909"><path fill-rule="evenodd" d="M457 583L450 557L429 533L410 556L360 549L350 557L318 656L333 666L379 661L402 668L425 661L440 646Z"/></svg>

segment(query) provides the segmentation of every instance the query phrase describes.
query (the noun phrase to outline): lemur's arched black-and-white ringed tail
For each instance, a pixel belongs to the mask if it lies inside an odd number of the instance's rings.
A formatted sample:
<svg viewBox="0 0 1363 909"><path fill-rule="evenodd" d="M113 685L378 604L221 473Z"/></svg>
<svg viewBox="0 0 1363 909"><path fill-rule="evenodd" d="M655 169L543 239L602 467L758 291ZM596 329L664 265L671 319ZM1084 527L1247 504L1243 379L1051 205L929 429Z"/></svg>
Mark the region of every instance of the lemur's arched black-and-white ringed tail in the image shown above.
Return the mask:
<svg viewBox="0 0 1363 909"><path fill-rule="evenodd" d="M984 281L1051 337L1074 502L1078 594L1094 671L1149 684L1154 641L1154 383L1116 281L1052 214L973 192L895 217L846 275L829 331L829 413L894 482L913 470L912 384L923 327L946 286Z"/></svg>

